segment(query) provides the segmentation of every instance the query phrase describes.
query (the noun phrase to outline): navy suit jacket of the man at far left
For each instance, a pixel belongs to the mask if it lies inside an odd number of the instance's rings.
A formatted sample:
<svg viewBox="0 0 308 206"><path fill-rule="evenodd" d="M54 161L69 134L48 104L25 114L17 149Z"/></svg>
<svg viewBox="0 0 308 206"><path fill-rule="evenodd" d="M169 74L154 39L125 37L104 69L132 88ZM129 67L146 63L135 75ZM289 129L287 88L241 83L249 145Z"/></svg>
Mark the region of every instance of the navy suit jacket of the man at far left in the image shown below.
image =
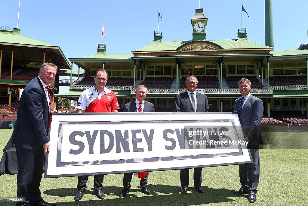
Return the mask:
<svg viewBox="0 0 308 206"><path fill-rule="evenodd" d="M43 150L42 145L49 142L49 111L45 90L37 76L22 92L12 134L13 143L30 150Z"/></svg>

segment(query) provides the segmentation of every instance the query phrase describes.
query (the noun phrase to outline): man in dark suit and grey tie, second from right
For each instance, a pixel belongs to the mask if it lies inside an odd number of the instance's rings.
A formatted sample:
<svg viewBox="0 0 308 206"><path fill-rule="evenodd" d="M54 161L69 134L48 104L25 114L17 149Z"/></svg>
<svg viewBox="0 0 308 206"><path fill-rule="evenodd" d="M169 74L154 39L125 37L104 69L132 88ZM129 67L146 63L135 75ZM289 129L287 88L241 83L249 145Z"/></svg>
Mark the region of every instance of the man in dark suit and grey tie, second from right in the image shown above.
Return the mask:
<svg viewBox="0 0 308 206"><path fill-rule="evenodd" d="M174 101L174 112L208 112L209 104L206 95L196 92L198 80L195 76L188 76L185 80L187 91L176 95ZM201 172L202 167L194 168L193 180L195 188L198 192L204 193L201 187ZM181 169L181 190L180 192L187 193L189 184L189 169Z"/></svg>

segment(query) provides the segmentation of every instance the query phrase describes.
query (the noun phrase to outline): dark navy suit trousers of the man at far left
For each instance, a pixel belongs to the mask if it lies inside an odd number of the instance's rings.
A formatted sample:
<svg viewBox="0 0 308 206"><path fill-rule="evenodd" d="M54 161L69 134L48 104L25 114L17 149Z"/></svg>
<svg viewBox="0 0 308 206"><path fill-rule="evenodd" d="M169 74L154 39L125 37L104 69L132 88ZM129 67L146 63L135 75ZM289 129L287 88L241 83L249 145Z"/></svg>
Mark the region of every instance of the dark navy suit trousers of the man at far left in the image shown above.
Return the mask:
<svg viewBox="0 0 308 206"><path fill-rule="evenodd" d="M44 150L29 150L16 145L18 164L17 197L25 202L16 205L36 205L43 201L39 186L43 175Z"/></svg>

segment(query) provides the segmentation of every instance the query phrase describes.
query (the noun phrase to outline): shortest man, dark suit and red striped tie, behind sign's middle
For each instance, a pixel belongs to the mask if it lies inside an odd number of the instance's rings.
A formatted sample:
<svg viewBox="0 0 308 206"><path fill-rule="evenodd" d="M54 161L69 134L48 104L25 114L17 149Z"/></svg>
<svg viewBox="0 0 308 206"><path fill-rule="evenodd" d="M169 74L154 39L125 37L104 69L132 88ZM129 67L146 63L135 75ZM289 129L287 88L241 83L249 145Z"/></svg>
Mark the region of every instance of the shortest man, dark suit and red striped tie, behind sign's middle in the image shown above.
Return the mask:
<svg viewBox="0 0 308 206"><path fill-rule="evenodd" d="M143 84L138 85L136 89L136 101L132 101L130 103L125 104L123 112L155 112L154 105L151 102L145 101L145 97L147 96L147 88ZM123 176L123 190L120 193L119 197L125 197L131 188L133 173L124 173ZM141 192L146 195L152 195L152 192L148 189L148 175L140 179L140 187Z"/></svg>

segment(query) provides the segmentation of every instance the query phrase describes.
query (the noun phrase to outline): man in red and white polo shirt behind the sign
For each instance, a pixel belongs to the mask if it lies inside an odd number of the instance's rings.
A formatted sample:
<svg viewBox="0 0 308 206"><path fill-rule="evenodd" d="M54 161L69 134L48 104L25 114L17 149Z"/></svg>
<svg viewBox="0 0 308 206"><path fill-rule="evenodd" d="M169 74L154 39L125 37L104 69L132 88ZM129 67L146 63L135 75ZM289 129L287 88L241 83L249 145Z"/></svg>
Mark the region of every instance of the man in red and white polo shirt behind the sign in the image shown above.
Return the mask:
<svg viewBox="0 0 308 206"><path fill-rule="evenodd" d="M97 70L94 81L95 85L90 89L82 92L77 102L76 108L78 112L118 112L119 103L115 93L110 89L105 88L108 80L108 72L104 69ZM84 191L87 188L87 181L89 176L78 176L78 184L74 199L75 201L81 200ZM105 194L102 191L104 175L94 175L94 190L95 195L99 199L104 199Z"/></svg>

